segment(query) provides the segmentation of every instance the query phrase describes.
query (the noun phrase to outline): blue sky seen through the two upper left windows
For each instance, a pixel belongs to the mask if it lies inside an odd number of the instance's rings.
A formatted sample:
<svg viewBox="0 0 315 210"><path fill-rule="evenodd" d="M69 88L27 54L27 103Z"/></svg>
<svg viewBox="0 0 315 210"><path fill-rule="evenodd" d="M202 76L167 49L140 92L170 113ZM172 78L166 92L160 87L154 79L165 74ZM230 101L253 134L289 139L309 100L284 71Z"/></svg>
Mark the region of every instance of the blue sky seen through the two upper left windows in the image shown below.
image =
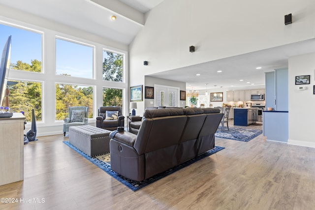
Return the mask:
<svg viewBox="0 0 315 210"><path fill-rule="evenodd" d="M0 48L9 35L11 38L11 63L22 60L42 61L42 34L0 24ZM56 72L75 77L93 78L93 48L56 39Z"/></svg>

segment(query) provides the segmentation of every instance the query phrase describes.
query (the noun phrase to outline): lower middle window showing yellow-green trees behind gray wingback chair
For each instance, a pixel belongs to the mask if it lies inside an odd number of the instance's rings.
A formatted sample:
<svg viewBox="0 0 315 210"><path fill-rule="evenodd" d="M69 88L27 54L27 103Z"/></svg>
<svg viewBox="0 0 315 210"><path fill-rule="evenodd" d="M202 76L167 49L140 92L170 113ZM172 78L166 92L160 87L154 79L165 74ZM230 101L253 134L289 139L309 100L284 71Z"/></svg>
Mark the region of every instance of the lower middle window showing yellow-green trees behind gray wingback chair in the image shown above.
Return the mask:
<svg viewBox="0 0 315 210"><path fill-rule="evenodd" d="M68 117L68 107L88 106L93 118L93 87L56 84L56 120Z"/></svg>

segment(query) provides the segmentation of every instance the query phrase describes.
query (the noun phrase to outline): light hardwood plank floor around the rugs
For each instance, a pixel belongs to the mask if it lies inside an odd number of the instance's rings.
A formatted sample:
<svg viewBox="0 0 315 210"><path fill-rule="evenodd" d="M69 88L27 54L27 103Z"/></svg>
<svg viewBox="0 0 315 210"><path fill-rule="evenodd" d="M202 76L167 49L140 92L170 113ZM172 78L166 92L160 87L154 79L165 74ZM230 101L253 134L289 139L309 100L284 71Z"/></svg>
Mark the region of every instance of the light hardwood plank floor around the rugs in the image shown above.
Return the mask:
<svg viewBox="0 0 315 210"><path fill-rule="evenodd" d="M38 139L24 146L24 181L0 186L0 198L18 199L0 203L1 210L315 208L315 148L262 135L249 142L217 138L224 150L133 192L63 144L62 134Z"/></svg>

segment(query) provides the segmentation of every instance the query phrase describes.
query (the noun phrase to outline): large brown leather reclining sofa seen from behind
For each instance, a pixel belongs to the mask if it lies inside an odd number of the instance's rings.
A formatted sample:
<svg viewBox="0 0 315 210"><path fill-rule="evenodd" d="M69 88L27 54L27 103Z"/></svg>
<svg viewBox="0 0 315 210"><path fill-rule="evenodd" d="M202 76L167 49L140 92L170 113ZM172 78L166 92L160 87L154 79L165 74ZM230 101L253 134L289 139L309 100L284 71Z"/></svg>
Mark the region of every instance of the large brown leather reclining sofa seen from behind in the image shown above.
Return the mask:
<svg viewBox="0 0 315 210"><path fill-rule="evenodd" d="M219 109L146 110L138 135L110 134L111 169L142 181L215 147Z"/></svg>

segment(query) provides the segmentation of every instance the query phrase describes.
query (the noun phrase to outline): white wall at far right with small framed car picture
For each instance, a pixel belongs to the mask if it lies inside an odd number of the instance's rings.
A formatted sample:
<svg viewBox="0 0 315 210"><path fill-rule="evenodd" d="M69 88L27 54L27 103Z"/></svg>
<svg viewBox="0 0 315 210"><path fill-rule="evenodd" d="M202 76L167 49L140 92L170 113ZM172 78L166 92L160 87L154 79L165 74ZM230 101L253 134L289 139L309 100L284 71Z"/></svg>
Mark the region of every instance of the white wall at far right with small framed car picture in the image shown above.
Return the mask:
<svg viewBox="0 0 315 210"><path fill-rule="evenodd" d="M288 144L315 148L315 53L289 58ZM295 85L295 76L311 75L310 85ZM307 90L297 90L304 86Z"/></svg>

